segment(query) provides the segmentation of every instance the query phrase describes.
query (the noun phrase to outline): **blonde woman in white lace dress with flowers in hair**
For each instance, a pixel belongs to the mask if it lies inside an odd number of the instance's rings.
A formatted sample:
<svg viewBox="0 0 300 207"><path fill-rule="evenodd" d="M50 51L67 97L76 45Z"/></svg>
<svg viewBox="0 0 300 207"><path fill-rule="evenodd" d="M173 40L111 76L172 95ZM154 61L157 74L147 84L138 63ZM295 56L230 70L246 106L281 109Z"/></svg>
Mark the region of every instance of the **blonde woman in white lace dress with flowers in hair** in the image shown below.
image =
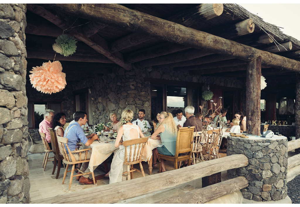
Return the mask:
<svg viewBox="0 0 300 207"><path fill-rule="evenodd" d="M121 138L123 137L123 141L127 141L144 137L140 127L138 125L130 123L132 118L133 112L131 110L125 109L122 111L120 121L121 127L118 130L118 136L115 143L115 147L120 148L117 152L115 152L112 164L110 166L110 183L122 181L122 174L126 171L126 165L123 164L125 147L122 145L122 143L120 143ZM134 146L132 147L132 149L134 149ZM129 159L130 146L128 146L127 152Z"/></svg>

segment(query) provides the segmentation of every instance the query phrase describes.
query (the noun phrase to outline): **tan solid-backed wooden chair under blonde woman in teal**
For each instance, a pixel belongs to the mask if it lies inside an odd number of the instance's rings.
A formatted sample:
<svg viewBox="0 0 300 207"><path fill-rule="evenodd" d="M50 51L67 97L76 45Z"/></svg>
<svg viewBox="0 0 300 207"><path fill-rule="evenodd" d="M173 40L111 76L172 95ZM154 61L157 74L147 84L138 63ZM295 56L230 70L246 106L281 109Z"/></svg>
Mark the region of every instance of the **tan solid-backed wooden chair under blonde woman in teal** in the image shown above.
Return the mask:
<svg viewBox="0 0 300 207"><path fill-rule="evenodd" d="M195 127L179 127L176 137L176 151L174 156L170 155L158 155L158 165L159 165L159 172L161 173L161 159L173 161L174 162L174 169L178 169L178 162L187 160L188 165L190 166L190 157L192 155L193 149L193 132ZM186 154L182 154L186 153Z"/></svg>

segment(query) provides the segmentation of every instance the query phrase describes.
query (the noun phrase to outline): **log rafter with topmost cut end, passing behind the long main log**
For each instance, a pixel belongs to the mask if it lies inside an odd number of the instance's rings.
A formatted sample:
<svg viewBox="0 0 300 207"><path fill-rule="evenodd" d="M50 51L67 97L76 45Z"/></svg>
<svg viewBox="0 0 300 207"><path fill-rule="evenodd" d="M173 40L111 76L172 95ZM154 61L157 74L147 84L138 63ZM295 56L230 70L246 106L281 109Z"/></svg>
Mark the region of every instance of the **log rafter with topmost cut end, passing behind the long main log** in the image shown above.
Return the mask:
<svg viewBox="0 0 300 207"><path fill-rule="evenodd" d="M179 14L170 16L168 21L177 22L184 26L191 26L197 21L205 21L220 16L223 12L223 4L199 4L196 7L184 10ZM122 49L152 40L148 34L133 33L122 37L110 44L110 51L116 52Z"/></svg>

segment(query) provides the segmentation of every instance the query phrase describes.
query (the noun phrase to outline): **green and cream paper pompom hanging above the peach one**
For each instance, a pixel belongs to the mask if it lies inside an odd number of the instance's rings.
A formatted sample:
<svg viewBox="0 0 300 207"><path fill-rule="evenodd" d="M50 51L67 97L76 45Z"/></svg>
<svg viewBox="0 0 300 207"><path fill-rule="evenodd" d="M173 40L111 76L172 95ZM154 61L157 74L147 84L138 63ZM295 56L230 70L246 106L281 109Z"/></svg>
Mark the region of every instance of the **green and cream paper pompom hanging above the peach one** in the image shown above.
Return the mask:
<svg viewBox="0 0 300 207"><path fill-rule="evenodd" d="M72 55L76 51L76 43L73 36L68 35L60 35L56 38L55 43L52 45L52 48L55 52L69 56Z"/></svg>

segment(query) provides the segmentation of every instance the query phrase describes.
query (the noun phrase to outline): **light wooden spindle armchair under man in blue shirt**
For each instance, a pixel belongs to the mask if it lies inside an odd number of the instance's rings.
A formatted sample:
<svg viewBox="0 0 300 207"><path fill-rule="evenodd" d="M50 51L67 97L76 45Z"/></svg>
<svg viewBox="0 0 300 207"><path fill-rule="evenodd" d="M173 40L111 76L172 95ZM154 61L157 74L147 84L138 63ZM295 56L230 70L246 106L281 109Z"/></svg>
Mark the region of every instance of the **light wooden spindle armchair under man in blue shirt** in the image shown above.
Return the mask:
<svg viewBox="0 0 300 207"><path fill-rule="evenodd" d="M69 147L68 147L68 139L66 137L59 137L59 136L57 136L57 142L58 142L58 147L61 149L61 152L63 152L62 153L63 154L62 156L64 157L63 162L67 165L66 166L66 170L64 170L64 177L62 179L62 184L64 184L64 180L66 179L67 173L71 172L70 183L69 183L69 190L71 189L71 184L72 184L73 177L83 176L83 175L88 175L88 174L92 174L94 185L97 185L96 182L95 182L94 171L93 172L85 173L82 170L80 170L79 168L76 168L81 174L73 175L74 174L74 170L75 170L75 164L85 163L85 162L89 162L90 161L90 159L87 159L87 155L88 155L88 150L91 150L91 148L71 151L69 149ZM69 158L69 156L67 154L67 150L66 150L66 148L64 146L66 146L71 159ZM72 154L72 153L75 153L75 152L79 153L79 161L76 161L74 155ZM84 160L81 160L81 153L82 152L85 153ZM68 171L69 165L72 165L72 170Z"/></svg>

